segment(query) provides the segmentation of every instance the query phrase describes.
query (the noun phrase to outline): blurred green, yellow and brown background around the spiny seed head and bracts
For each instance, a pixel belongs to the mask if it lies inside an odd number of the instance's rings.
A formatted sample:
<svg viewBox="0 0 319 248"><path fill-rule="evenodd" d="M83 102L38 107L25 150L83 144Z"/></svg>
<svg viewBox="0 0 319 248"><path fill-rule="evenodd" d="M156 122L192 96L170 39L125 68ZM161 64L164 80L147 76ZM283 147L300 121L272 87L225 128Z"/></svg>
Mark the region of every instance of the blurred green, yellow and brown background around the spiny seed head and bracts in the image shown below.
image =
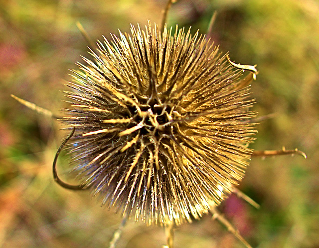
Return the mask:
<svg viewBox="0 0 319 248"><path fill-rule="evenodd" d="M58 121L10 94L59 114L69 69L87 56L79 21L93 40L160 23L166 0L0 0L0 247L108 247L121 223L85 192L53 182L52 161L65 137ZM258 248L319 247L319 1L179 0L168 25L192 26L232 61L257 64L255 110L274 114L257 129L256 150L298 148L302 156L253 158L239 186L261 207L235 195L220 206ZM59 171L67 178L67 157ZM119 248L160 248L160 227L129 221ZM176 248L243 247L211 216L176 230Z"/></svg>

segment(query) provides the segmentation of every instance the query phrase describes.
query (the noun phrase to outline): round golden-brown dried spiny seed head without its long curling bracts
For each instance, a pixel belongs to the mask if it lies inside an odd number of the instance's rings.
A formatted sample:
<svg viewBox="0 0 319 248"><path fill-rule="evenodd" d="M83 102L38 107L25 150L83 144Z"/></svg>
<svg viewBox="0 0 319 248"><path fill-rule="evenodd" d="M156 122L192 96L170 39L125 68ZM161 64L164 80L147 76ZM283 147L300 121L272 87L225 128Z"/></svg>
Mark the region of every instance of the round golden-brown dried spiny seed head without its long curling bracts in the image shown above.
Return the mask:
<svg viewBox="0 0 319 248"><path fill-rule="evenodd" d="M141 31L98 42L74 71L71 164L103 205L148 224L180 224L217 206L244 176L253 100L198 32Z"/></svg>

